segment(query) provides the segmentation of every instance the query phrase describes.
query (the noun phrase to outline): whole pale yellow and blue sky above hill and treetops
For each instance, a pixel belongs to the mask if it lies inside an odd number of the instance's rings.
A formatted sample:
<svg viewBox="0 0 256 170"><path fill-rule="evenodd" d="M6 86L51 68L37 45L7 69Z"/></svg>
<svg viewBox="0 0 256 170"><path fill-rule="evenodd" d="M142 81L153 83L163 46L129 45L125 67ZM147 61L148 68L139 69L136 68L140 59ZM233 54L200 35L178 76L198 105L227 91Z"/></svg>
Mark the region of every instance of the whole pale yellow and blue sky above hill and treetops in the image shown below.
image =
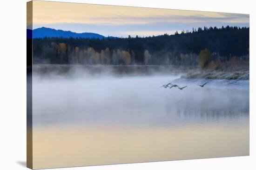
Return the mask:
<svg viewBox="0 0 256 170"><path fill-rule="evenodd" d="M31 23L27 23L31 25ZM103 36L157 36L203 26L249 26L248 14L33 1L33 29L94 32Z"/></svg>

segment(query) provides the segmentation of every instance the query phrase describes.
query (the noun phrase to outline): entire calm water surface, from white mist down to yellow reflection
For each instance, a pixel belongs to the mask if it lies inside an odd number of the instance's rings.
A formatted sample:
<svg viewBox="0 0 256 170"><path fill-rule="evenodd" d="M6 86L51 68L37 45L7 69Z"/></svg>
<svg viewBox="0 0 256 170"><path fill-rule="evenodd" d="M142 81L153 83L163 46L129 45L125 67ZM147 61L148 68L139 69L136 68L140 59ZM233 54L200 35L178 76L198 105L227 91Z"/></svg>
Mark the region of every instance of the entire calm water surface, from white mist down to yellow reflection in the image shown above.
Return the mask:
<svg viewBox="0 0 256 170"><path fill-rule="evenodd" d="M176 78L34 76L34 168L249 155L249 81Z"/></svg>

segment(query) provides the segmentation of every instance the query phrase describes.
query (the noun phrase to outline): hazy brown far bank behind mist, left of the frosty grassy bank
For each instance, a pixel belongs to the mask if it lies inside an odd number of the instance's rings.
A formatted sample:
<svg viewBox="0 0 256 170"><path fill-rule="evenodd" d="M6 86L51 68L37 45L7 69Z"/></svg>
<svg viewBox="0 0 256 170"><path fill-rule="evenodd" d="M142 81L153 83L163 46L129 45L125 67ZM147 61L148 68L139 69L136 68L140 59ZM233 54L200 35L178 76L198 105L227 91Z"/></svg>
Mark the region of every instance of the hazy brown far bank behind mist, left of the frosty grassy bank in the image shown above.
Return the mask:
<svg viewBox="0 0 256 170"><path fill-rule="evenodd" d="M149 75L183 75L193 66L167 65L68 65L68 64L34 64L33 73L41 76L149 76Z"/></svg>

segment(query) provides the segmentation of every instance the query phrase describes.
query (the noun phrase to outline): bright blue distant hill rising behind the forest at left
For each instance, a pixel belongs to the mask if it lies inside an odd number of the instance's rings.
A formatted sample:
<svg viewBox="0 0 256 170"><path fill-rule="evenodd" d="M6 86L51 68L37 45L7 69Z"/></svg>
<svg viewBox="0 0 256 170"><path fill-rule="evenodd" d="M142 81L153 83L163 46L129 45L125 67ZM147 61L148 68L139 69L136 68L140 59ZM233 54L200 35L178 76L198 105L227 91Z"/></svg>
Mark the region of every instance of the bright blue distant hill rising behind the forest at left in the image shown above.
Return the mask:
<svg viewBox="0 0 256 170"><path fill-rule="evenodd" d="M91 33L91 32L83 32L76 33L71 31L63 31L63 30L55 30L52 28L41 27L33 30L33 38L105 38L103 35Z"/></svg>

